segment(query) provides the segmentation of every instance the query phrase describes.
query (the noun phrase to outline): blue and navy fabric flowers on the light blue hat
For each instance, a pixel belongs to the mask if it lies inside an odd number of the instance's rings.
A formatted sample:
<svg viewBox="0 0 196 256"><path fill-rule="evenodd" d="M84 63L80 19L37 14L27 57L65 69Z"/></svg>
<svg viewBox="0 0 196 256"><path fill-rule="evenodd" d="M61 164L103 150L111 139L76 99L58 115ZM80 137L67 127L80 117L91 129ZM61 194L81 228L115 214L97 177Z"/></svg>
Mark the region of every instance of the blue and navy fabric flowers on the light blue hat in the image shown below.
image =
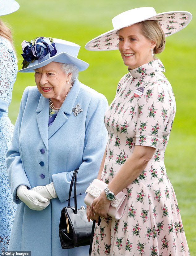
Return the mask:
<svg viewBox="0 0 196 256"><path fill-rule="evenodd" d="M28 67L30 62L34 62L36 59L41 59L49 54L49 57L53 57L57 53L55 43L53 43L52 37L36 37L35 39L22 42L23 67ZM21 65L22 65L21 64Z"/></svg>

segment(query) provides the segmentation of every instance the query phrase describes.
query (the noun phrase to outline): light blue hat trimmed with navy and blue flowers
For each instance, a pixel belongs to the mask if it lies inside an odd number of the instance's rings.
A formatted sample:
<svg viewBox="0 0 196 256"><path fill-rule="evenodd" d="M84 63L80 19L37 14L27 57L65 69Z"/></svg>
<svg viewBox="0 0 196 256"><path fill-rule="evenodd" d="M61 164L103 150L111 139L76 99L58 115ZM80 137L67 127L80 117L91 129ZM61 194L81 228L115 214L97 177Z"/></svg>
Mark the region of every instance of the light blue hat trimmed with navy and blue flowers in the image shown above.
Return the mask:
<svg viewBox="0 0 196 256"><path fill-rule="evenodd" d="M80 46L58 38L37 37L32 41L23 41L23 69L19 72L34 72L50 62L74 64L79 71L87 69L89 64L78 59Z"/></svg>

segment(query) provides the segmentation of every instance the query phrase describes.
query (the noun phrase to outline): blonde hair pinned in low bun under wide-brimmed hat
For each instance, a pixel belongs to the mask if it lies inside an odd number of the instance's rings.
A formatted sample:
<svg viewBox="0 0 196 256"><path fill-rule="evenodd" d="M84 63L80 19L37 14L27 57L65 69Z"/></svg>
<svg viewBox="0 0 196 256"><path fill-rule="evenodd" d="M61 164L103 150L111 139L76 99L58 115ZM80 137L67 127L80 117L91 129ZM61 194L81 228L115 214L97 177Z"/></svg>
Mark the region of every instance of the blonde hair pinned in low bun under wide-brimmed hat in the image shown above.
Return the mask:
<svg viewBox="0 0 196 256"><path fill-rule="evenodd" d="M156 42L154 48L154 53L161 53L165 48L165 34L161 29L158 21L156 20L144 20L139 22L141 24L141 30L143 35L151 40Z"/></svg>

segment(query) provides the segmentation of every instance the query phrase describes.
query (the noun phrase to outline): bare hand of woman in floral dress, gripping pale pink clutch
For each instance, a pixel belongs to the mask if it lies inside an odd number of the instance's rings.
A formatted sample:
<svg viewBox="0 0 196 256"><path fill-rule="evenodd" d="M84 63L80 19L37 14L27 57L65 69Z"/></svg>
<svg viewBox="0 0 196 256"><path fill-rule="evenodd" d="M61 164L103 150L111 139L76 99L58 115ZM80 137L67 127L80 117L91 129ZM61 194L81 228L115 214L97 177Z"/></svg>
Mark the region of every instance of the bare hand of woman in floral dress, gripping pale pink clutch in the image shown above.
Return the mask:
<svg viewBox="0 0 196 256"><path fill-rule="evenodd" d="M95 198L91 204L92 209L90 219L95 219L98 221L99 216L100 218L108 218L110 202L111 201L107 199L105 192L101 192L100 196Z"/></svg>

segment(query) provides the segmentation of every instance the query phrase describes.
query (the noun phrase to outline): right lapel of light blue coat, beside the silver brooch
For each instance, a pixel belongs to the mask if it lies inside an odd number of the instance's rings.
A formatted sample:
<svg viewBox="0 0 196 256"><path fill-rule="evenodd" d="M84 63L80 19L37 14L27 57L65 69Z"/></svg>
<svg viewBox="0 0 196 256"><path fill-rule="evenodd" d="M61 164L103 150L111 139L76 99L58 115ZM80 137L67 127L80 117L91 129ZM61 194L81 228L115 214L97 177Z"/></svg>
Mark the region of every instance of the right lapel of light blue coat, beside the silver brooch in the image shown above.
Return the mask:
<svg viewBox="0 0 196 256"><path fill-rule="evenodd" d="M80 82L76 79L69 94L63 102L53 124L49 128L48 139L52 137L53 134L57 132L58 129L61 128L62 125L65 124L65 122L68 120L69 116L72 113L72 109L75 104L76 98L78 97L80 87Z"/></svg>

